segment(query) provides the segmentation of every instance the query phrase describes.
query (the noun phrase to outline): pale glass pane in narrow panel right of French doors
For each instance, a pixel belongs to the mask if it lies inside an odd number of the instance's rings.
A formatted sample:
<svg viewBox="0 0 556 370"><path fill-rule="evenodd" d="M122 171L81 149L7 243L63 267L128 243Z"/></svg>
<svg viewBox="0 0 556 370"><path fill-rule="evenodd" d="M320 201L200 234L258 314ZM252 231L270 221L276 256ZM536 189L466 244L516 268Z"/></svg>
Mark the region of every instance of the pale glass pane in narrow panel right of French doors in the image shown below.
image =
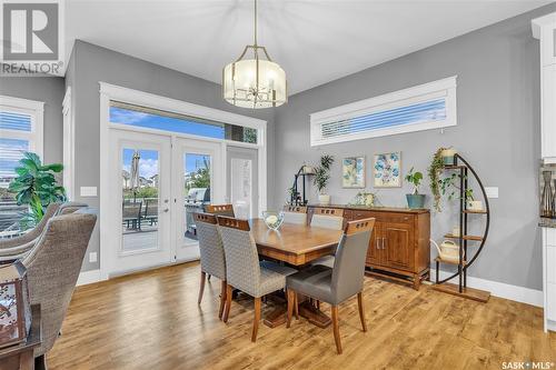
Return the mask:
<svg viewBox="0 0 556 370"><path fill-rule="evenodd" d="M251 218L252 198L252 161L250 159L231 159L231 203L237 218Z"/></svg>

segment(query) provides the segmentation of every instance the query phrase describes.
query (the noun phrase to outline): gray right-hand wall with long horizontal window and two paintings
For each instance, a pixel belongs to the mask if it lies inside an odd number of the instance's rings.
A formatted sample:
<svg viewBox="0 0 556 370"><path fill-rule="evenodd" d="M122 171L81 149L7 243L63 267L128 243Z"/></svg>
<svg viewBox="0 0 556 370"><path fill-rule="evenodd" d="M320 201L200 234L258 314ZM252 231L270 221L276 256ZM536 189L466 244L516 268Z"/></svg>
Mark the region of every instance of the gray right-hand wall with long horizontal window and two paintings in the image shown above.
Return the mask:
<svg viewBox="0 0 556 370"><path fill-rule="evenodd" d="M365 154L369 183L374 153L401 151L404 174L411 167L426 173L433 152L454 146L486 186L499 187L499 199L490 201L490 236L470 276L542 289L539 47L532 37L530 19L555 10L550 4L291 97L276 114L275 206L284 203L299 166L316 162L322 153L337 160L328 193L332 202L345 203L357 190L341 189L341 158ZM458 76L457 127L444 133L431 130L310 147L310 113L454 74ZM425 182L423 190L429 193ZM378 190L378 197L385 206L404 207L407 192L404 184ZM434 214L436 239L456 224L450 213L448 207ZM475 231L478 228L474 226Z"/></svg>

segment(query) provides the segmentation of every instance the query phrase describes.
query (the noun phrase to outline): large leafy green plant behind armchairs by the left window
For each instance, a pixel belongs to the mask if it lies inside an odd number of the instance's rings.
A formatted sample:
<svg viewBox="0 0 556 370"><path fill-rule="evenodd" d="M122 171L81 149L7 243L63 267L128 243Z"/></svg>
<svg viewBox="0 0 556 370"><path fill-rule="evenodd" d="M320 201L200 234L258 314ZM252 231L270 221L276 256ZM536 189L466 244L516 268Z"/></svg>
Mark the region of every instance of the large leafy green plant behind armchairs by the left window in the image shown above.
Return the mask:
<svg viewBox="0 0 556 370"><path fill-rule="evenodd" d="M66 191L54 178L54 173L62 169L60 163L42 164L36 153L23 153L16 168L17 177L8 188L16 193L18 206L29 204L29 212L21 218L23 229L37 224L44 216L48 204L66 200Z"/></svg>

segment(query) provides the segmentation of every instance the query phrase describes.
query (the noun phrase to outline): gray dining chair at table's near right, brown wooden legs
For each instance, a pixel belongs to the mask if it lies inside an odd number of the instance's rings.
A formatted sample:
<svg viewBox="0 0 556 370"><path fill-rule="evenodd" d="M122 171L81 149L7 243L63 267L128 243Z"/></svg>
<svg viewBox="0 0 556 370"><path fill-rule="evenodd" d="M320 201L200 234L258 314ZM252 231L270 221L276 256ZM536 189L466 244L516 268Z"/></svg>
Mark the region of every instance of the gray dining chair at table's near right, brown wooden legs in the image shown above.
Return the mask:
<svg viewBox="0 0 556 370"><path fill-rule="evenodd" d="M338 304L357 294L359 319L361 320L363 331L367 331L363 307L363 282L365 259L374 226L375 219L357 220L347 224L336 249L332 269L316 264L288 276L286 281L288 289L288 328L291 322L294 304L297 304L295 298L297 293L327 302L331 304L336 349L338 353L341 353Z"/></svg>

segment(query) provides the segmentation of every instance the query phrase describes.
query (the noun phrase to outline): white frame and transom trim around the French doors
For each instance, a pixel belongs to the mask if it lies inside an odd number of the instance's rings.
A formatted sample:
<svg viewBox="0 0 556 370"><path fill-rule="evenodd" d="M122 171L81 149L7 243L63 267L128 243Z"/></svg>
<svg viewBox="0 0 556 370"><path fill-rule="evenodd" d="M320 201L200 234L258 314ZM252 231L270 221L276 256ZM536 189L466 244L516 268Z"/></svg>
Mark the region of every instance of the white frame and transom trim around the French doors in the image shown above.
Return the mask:
<svg viewBox="0 0 556 370"><path fill-rule="evenodd" d="M112 129L129 130L136 132L148 132L157 134L166 134L172 138L196 139L219 142L222 146L222 161L224 173L226 173L226 151L227 146L256 148L258 151L258 170L259 170L259 213L267 209L267 121L256 119L252 117L241 116L237 113L227 112L219 109L192 104L186 101L166 98L139 90L128 89L107 82L99 81L100 92L100 187L99 187L99 229L100 229L100 279L107 280L109 273L109 238L111 237L107 231L110 230L110 217L106 217L110 210L110 201L106 191L110 189L110 173L109 173L109 146L110 146L110 131ZM172 133L161 130L143 129L136 127L128 127L125 124L116 124L110 122L110 101L116 100L119 102L137 104L163 111L170 111L190 117L198 117L207 120L212 120L222 123L235 126L248 127L257 129L258 142L257 144L238 142L231 140L219 140L211 138L202 138L191 134Z"/></svg>

